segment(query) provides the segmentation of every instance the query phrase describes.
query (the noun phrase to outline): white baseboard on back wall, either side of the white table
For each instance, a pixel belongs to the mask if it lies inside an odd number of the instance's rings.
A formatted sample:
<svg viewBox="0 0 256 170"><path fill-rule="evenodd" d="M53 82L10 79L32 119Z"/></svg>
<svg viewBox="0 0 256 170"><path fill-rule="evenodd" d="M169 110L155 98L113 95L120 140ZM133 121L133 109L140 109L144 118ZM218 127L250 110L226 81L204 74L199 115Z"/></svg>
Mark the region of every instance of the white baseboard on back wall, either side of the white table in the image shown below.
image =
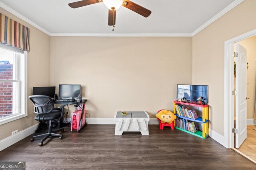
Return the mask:
<svg viewBox="0 0 256 170"><path fill-rule="evenodd" d="M68 118L69 119L69 118ZM88 124L94 124L94 125L114 125L115 119L114 118L86 118L86 122ZM150 118L150 121L148 122L149 125L158 125L159 122L157 118Z"/></svg>

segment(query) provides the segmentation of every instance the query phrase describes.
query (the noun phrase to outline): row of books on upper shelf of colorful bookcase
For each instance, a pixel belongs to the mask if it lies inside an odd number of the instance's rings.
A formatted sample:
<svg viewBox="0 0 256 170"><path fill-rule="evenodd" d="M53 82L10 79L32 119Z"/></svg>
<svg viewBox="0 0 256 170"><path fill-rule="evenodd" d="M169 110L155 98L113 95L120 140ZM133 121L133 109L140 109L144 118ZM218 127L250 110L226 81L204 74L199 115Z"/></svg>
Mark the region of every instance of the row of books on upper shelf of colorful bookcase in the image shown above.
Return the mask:
<svg viewBox="0 0 256 170"><path fill-rule="evenodd" d="M198 115L193 108L186 107L182 104L175 105L176 113L182 117L187 117L190 119L197 119Z"/></svg>

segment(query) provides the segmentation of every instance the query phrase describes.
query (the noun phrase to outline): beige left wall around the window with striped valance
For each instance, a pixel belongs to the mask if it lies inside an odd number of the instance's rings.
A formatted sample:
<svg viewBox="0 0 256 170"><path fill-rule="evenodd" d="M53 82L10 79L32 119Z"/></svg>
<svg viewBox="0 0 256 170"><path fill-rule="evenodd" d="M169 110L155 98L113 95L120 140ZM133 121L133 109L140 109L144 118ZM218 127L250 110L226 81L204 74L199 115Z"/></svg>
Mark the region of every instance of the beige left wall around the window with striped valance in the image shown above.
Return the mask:
<svg viewBox="0 0 256 170"><path fill-rule="evenodd" d="M32 95L33 86L49 85L49 41L50 37L20 18L0 8L0 13L30 28L30 52L28 53L28 96ZM0 125L0 140L11 136L12 131L22 131L36 123L32 103L28 100L28 116Z"/></svg>

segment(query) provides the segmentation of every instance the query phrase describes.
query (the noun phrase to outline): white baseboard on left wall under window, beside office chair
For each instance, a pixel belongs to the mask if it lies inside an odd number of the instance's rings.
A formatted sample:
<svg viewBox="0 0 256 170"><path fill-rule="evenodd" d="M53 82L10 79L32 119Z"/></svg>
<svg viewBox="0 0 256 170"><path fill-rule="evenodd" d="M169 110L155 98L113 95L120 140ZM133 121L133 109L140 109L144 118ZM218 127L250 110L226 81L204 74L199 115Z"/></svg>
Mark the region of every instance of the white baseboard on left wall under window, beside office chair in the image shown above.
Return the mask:
<svg viewBox="0 0 256 170"><path fill-rule="evenodd" d="M12 135L12 136L9 136L5 139L2 139L0 141L0 151L10 147L14 143L16 143L16 142L24 139L25 137L28 137L29 135L33 134L36 131L36 128L37 128L38 124L39 123L37 123L36 125L30 126L27 129L24 129L24 130L18 132L16 135Z"/></svg>

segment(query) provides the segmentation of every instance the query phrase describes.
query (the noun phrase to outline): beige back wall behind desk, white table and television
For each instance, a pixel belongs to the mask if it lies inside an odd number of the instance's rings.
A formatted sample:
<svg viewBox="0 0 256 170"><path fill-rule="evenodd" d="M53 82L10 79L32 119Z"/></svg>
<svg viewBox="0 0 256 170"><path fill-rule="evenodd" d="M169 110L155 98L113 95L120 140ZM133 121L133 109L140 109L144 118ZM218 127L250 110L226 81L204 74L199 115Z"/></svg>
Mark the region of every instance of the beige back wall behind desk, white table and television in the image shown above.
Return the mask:
<svg viewBox="0 0 256 170"><path fill-rule="evenodd" d="M81 84L90 117L155 117L173 110L177 84L191 83L192 37L50 37L50 85Z"/></svg>

